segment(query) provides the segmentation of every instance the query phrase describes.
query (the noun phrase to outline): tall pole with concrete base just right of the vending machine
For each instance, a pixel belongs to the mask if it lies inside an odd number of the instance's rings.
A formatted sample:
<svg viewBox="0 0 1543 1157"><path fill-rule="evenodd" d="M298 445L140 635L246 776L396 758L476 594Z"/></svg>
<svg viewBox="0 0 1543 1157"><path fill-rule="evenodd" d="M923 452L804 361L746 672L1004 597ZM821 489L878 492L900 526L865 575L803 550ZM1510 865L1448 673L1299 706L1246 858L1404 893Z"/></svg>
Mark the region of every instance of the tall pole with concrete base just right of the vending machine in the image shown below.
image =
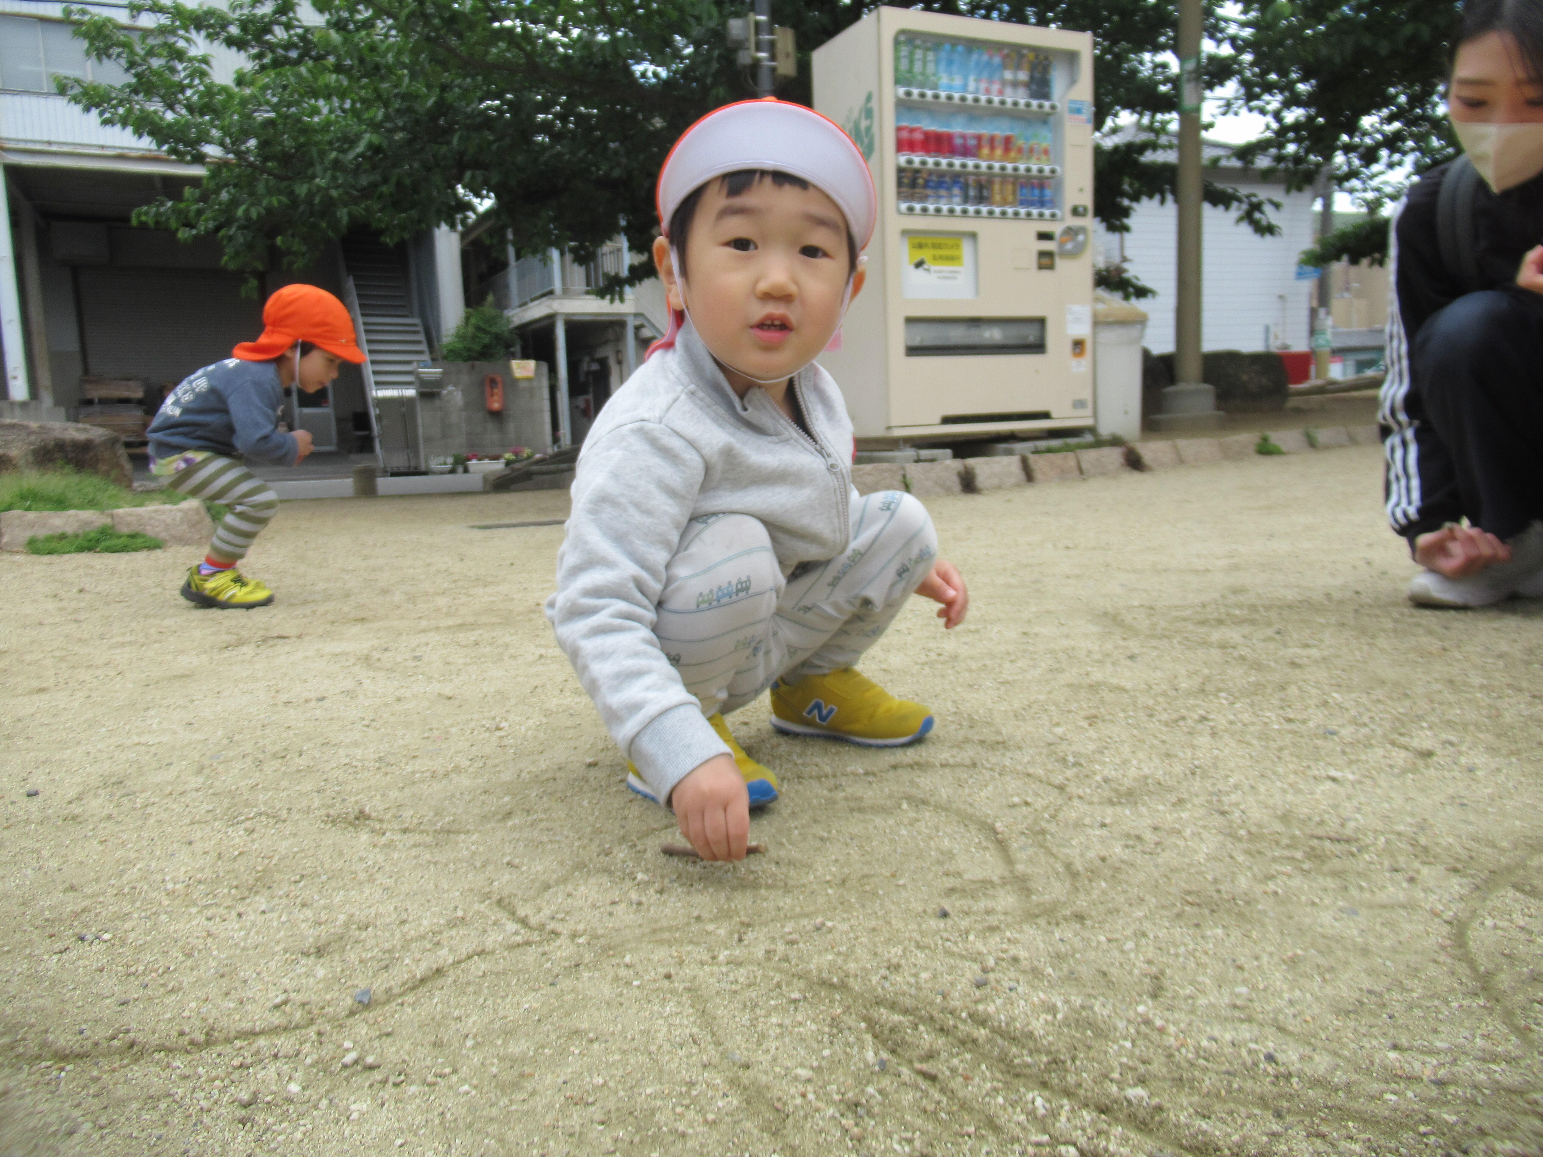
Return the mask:
<svg viewBox="0 0 1543 1157"><path fill-rule="evenodd" d="M1179 0L1179 284L1174 302L1173 376L1162 392L1159 430L1210 430L1222 424L1216 389L1205 384L1200 312L1200 228L1204 174L1200 171L1200 34L1204 0Z"/></svg>

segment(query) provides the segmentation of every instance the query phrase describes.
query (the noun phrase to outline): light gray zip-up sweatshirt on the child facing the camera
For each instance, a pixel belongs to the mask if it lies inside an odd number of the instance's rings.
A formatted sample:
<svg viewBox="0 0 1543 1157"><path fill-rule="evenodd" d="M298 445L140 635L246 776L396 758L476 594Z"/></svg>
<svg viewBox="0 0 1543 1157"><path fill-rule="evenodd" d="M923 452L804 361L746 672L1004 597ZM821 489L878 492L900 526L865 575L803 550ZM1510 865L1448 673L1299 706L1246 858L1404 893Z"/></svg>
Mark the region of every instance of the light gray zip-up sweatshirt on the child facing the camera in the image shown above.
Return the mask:
<svg viewBox="0 0 1543 1157"><path fill-rule="evenodd" d="M606 730L659 799L728 748L654 637L665 566L691 518L748 514L782 572L852 540L852 421L819 366L793 378L805 435L761 387L744 401L690 322L585 438L546 617Z"/></svg>

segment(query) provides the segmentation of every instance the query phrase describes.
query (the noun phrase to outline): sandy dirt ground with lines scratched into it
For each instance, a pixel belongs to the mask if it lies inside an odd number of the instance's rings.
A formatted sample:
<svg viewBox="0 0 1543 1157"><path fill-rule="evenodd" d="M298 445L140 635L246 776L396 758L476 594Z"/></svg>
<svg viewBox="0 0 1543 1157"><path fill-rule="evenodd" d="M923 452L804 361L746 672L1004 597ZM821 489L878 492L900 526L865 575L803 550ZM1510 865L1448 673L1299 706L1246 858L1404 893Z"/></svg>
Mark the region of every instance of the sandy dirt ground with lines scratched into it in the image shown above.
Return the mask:
<svg viewBox="0 0 1543 1157"><path fill-rule="evenodd" d="M934 501L937 731L736 714L736 867L471 529L565 501L0 557L0 1152L1538 1152L1543 605L1404 603L1375 447Z"/></svg>

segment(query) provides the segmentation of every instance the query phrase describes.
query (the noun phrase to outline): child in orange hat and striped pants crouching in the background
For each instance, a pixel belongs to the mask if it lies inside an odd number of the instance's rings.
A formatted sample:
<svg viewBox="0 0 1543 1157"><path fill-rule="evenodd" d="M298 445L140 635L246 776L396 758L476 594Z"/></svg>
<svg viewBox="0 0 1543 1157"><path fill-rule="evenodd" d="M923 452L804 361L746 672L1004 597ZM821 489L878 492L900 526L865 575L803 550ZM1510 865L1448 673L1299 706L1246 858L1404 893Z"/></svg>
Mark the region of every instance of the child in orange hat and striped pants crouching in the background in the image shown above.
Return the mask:
<svg viewBox="0 0 1543 1157"><path fill-rule="evenodd" d="M221 609L267 606L273 592L236 569L279 498L245 467L295 466L310 454L307 430L279 430L284 390L315 393L341 363L364 361L347 307L316 285L285 285L262 307L262 336L188 375L150 423L151 471L190 498L224 503L208 555L182 583L182 597Z"/></svg>

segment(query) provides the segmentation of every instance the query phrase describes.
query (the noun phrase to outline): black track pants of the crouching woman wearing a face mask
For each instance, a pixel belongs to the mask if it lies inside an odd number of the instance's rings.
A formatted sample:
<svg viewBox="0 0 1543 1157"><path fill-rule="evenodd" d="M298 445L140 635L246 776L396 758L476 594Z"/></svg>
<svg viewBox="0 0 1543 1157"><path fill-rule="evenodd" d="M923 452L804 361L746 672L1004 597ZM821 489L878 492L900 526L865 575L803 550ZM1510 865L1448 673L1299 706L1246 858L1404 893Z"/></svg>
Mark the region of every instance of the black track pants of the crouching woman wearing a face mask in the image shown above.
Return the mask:
<svg viewBox="0 0 1543 1157"><path fill-rule="evenodd" d="M1500 538L1543 518L1543 299L1521 293L1458 298L1410 350L1463 514Z"/></svg>

